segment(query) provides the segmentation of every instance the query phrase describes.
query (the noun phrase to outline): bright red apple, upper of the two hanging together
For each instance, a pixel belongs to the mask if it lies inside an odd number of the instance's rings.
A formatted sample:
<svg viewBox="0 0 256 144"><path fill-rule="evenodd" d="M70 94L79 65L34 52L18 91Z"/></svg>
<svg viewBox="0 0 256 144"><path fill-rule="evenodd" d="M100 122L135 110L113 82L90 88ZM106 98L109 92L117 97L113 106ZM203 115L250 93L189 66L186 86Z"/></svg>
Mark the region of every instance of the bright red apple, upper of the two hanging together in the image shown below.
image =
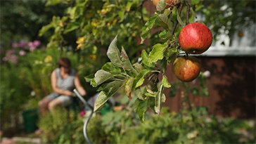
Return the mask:
<svg viewBox="0 0 256 144"><path fill-rule="evenodd" d="M179 44L186 53L203 53L212 44L212 32L202 23L193 22L186 25L179 33Z"/></svg>

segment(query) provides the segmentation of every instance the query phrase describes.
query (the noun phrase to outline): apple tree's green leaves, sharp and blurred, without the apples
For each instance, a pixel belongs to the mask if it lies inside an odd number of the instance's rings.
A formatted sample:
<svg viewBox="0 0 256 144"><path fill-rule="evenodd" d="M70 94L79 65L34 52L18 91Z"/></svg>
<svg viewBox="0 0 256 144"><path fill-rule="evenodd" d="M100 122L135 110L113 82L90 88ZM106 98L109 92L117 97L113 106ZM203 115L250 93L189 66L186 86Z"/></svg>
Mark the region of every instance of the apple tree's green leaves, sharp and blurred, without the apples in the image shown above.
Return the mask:
<svg viewBox="0 0 256 144"><path fill-rule="evenodd" d="M48 30L54 30L48 47L65 49L72 44L67 39L70 36L77 39L77 50L86 55L98 53L98 58L105 58L105 55L99 53L99 50L108 47L106 54L110 62L98 70L94 74L94 78L92 75L86 77L87 81L91 81L92 86L98 87L98 91L101 91L94 111L100 110L108 98L124 86L124 91L130 99L134 97L143 101L137 105L136 109L141 121L143 121L143 114L147 110L146 107L151 107L154 112L160 114L161 105L165 101L162 91L170 88L170 84L165 78L165 71L167 65L173 63L179 55L181 48L177 36L181 28L185 23L195 21L196 12L210 15L205 11L214 10L206 7L208 3L217 4L216 1L186 0L166 9L165 1L161 0L156 6L155 13L151 15L151 18L147 18L143 3L144 1L138 0L47 2L49 6L56 4L68 6L63 17L54 16L51 23L41 29L40 35ZM231 5L229 2L223 2L223 4ZM184 11L185 8L186 11ZM215 8L219 10L220 7ZM213 23L215 22L211 22L209 27L212 25L215 27ZM155 28L160 28L159 30L162 32L151 35L151 30ZM219 29L220 27L215 31L217 32ZM132 65L137 59L134 58L134 53L141 48L136 45L139 42L139 35L141 37L140 46L143 46L143 41L146 38L150 40L150 44L141 52L142 62ZM113 39L113 37L115 38ZM124 47L120 50L117 48L117 44ZM72 46L74 45L72 44ZM139 69L135 65L139 65ZM159 74L164 81L159 81ZM187 93L191 92L196 95L199 93L199 89L191 89L188 84L182 86L188 89ZM206 87L201 86L201 88L203 95L207 96ZM175 89L179 88L174 86L170 89L176 91ZM139 93L139 95L133 93Z"/></svg>

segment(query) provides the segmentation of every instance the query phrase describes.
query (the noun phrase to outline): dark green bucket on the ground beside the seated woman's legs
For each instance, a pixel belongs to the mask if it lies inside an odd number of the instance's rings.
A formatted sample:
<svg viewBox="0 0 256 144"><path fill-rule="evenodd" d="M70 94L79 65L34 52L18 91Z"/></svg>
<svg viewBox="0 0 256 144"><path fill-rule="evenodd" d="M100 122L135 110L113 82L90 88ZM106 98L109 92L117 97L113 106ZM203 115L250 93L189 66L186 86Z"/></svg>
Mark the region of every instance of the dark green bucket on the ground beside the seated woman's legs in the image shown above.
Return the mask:
<svg viewBox="0 0 256 144"><path fill-rule="evenodd" d="M23 112L23 124L27 133L32 133L38 129L38 109L25 110Z"/></svg>

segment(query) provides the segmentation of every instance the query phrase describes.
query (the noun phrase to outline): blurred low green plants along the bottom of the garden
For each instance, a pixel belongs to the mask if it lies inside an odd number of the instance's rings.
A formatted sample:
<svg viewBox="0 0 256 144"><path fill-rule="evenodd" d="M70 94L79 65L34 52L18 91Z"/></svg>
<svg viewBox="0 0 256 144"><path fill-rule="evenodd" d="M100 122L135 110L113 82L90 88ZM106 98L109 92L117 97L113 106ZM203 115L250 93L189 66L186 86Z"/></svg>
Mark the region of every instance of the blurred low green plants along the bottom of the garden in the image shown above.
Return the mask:
<svg viewBox="0 0 256 144"><path fill-rule="evenodd" d="M89 139L93 143L253 143L254 126L248 121L209 116L207 107L172 114L163 107L160 115L146 112L141 123L132 105L136 98L125 110L92 117L87 127ZM198 119L193 120L192 115ZM85 143L82 125L82 117L64 109L46 114L39 122L44 143Z"/></svg>

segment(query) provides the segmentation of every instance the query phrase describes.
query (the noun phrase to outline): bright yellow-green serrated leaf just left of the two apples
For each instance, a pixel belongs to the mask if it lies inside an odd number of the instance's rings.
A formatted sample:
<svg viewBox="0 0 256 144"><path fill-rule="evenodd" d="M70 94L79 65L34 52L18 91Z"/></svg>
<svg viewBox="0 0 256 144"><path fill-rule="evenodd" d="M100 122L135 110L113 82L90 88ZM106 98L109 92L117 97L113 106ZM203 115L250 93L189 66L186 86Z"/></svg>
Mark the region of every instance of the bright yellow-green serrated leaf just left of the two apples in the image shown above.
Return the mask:
<svg viewBox="0 0 256 144"><path fill-rule="evenodd" d="M162 58L164 58L166 46L166 44L155 44L155 46L153 46L153 50L148 55L151 63L155 63L158 60L162 60Z"/></svg>

